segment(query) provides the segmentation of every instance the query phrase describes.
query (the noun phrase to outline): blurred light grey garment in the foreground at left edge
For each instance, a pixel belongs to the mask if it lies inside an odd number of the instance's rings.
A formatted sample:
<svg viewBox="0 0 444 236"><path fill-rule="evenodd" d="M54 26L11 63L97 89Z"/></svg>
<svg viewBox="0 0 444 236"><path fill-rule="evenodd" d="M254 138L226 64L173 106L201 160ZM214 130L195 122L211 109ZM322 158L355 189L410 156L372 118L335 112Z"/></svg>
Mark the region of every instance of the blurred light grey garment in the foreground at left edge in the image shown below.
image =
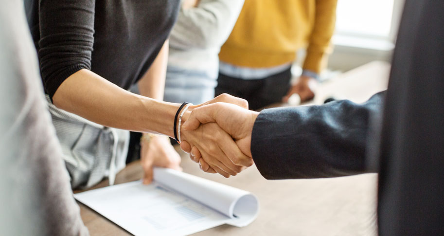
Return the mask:
<svg viewBox="0 0 444 236"><path fill-rule="evenodd" d="M23 1L0 4L0 235L88 235L45 107Z"/></svg>

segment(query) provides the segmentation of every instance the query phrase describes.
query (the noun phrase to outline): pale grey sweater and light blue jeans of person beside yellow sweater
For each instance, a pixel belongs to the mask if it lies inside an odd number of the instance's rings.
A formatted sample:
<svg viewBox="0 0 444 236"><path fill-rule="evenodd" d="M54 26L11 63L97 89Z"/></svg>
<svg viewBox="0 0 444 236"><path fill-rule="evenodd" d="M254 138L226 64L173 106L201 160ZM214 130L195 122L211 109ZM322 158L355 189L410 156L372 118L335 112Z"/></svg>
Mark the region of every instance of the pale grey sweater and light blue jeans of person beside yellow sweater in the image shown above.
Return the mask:
<svg viewBox="0 0 444 236"><path fill-rule="evenodd" d="M196 104L214 97L220 47L243 4L244 0L200 0L196 7L180 9L169 40L165 101Z"/></svg>

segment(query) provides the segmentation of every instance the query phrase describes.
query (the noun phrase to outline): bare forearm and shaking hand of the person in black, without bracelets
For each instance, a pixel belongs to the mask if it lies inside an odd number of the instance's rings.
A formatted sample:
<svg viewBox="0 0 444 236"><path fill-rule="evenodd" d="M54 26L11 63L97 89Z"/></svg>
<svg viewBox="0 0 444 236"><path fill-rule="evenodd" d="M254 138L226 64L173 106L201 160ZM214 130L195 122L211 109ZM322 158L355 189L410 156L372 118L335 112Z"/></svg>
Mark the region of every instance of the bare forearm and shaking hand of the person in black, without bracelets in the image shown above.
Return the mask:
<svg viewBox="0 0 444 236"><path fill-rule="evenodd" d="M211 103L245 103L240 100L242 99L223 95L214 98ZM55 106L61 109L104 126L160 133L170 137L174 137L174 117L180 106L125 91L88 70L81 70L66 79L55 92L53 101ZM187 120L192 109L185 113L183 122ZM241 166L230 160L248 159L229 135L213 135L212 139L207 138L208 134L226 134L218 126L206 125L192 131L182 130L182 134L190 145L198 144L201 152L221 160L216 163L215 167L218 169L215 170L225 177L236 175L242 170ZM218 143L223 139L230 139L230 145L220 146Z"/></svg>

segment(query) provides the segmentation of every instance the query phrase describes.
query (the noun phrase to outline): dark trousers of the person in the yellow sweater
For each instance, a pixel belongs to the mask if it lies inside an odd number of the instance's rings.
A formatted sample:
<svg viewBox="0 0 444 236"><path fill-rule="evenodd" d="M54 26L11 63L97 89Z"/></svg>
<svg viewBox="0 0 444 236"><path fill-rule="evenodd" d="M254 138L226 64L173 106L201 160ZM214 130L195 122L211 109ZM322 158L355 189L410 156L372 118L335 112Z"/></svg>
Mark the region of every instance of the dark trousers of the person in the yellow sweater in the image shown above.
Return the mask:
<svg viewBox="0 0 444 236"><path fill-rule="evenodd" d="M262 79L241 79L219 73L214 95L228 93L248 101L249 109L257 110L282 101L290 89L291 67Z"/></svg>

